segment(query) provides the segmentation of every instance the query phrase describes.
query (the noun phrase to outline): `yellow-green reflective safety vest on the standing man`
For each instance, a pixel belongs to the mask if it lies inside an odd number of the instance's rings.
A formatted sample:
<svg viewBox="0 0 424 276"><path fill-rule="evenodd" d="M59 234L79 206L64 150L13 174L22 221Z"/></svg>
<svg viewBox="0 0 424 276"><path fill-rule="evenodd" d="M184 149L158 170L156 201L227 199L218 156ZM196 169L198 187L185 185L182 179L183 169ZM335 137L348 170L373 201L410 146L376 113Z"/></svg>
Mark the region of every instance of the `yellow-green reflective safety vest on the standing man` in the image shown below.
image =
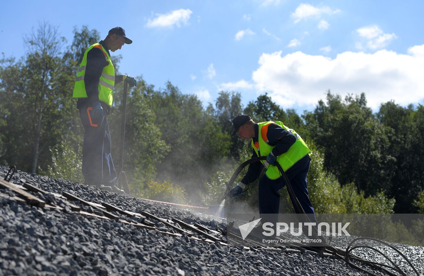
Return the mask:
<svg viewBox="0 0 424 276"><path fill-rule="evenodd" d="M102 50L103 55L105 56L105 59L108 62L108 65L103 67L102 74L100 75L98 91L99 91L99 100L108 104L109 106L112 106L113 88L115 85L115 68L112 64L112 61L106 49L99 43L95 43L91 45L85 51L84 57L81 61L81 65L78 69L77 76L75 78L75 86L74 86L74 92L72 97L74 99L87 98L87 92L85 90L85 83L84 83L84 75L85 75L85 70L87 65L87 53L92 48L99 48L100 50Z"/></svg>

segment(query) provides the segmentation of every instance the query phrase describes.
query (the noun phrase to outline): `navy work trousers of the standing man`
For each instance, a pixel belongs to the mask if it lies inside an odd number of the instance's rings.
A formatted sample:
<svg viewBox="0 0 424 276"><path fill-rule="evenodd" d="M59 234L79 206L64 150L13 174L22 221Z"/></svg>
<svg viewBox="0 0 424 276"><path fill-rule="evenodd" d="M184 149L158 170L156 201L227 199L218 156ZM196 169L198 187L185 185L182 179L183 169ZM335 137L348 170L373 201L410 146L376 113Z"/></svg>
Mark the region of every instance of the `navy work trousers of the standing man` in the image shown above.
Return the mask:
<svg viewBox="0 0 424 276"><path fill-rule="evenodd" d="M106 110L103 110L103 117L98 120L91 117L91 106L83 105L79 112L85 130L82 146L82 174L86 184L111 186L117 176L110 153L112 144Z"/></svg>

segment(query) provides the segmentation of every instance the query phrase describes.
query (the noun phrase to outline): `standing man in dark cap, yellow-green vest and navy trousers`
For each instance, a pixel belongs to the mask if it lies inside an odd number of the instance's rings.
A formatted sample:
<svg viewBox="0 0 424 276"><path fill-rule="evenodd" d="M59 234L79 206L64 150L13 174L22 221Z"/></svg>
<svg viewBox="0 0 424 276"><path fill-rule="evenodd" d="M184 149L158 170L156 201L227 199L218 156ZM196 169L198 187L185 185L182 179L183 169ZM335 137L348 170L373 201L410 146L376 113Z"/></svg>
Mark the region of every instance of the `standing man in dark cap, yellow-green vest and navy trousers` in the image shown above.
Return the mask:
<svg viewBox="0 0 424 276"><path fill-rule="evenodd" d="M109 50L120 50L131 44L121 27L112 28L106 38L88 47L84 53L75 79L73 98L78 99L77 109L84 126L82 147L82 174L85 184L100 190L124 193L117 185L117 175L111 155L111 138L106 114L113 100L114 85L127 81L129 87L137 86L135 78L115 75Z"/></svg>

